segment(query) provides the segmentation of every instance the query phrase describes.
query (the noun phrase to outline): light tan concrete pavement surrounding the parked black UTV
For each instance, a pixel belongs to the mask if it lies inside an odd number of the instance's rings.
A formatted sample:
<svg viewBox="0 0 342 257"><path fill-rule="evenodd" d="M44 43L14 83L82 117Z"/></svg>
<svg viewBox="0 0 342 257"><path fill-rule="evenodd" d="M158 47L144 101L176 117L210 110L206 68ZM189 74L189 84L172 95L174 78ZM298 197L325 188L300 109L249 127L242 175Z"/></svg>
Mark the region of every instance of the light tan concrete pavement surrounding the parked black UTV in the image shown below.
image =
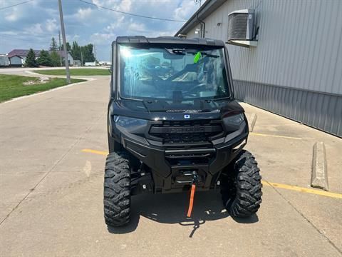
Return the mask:
<svg viewBox="0 0 342 257"><path fill-rule="evenodd" d="M0 256L342 256L342 200L265 186L248 220L217 193L136 196L130 226L103 222L108 79L0 104ZM325 141L331 191L342 193L340 138L258 114L247 148L264 181L309 188L311 151ZM338 168L340 168L338 170Z"/></svg>

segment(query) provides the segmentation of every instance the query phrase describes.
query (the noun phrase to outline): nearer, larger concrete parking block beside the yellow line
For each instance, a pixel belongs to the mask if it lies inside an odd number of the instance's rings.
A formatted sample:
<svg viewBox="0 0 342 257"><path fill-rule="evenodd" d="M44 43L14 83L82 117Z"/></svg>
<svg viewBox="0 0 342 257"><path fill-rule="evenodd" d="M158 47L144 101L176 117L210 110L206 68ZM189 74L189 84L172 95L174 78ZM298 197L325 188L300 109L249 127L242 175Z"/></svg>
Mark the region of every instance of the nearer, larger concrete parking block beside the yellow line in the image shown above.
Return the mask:
<svg viewBox="0 0 342 257"><path fill-rule="evenodd" d="M329 190L326 146L323 142L316 142L312 151L311 187Z"/></svg>

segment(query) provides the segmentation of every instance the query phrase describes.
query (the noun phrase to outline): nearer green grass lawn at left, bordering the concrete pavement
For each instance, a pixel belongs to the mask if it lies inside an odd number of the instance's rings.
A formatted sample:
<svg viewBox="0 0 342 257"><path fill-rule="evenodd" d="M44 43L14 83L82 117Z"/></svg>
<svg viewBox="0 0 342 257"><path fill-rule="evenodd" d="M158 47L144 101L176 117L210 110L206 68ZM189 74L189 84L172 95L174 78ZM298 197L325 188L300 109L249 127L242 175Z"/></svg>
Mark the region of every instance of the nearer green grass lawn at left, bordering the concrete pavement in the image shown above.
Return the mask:
<svg viewBox="0 0 342 257"><path fill-rule="evenodd" d="M71 83L81 81L84 80L71 79ZM59 86L66 86L66 79L52 78L43 84L40 79L34 77L0 74L0 103L19 96L55 89Z"/></svg>

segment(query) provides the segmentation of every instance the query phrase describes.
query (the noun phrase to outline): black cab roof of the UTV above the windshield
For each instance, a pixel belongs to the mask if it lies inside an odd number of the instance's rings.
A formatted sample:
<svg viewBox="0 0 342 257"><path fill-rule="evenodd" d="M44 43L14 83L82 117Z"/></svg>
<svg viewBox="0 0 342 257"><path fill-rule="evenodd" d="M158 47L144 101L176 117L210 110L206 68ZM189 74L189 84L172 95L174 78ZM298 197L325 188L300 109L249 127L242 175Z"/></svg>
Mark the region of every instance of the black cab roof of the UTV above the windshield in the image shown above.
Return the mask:
<svg viewBox="0 0 342 257"><path fill-rule="evenodd" d="M181 39L176 36L159 36L147 38L146 36L118 36L118 44L191 44L202 46L224 46L222 40L217 39ZM115 43L115 41L113 42Z"/></svg>

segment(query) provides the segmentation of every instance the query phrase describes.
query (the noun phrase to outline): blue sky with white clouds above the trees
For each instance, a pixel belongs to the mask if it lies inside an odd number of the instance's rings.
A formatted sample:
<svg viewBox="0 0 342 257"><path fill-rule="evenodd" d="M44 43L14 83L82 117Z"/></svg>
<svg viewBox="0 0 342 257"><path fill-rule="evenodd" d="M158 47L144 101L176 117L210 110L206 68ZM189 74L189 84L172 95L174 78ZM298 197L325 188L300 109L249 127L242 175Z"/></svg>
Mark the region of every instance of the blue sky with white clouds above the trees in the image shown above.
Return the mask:
<svg viewBox="0 0 342 257"><path fill-rule="evenodd" d="M0 0L0 54L12 49L48 49L58 41L58 0ZM26 0L27 1L27 0ZM84 0L98 6L143 16L181 22L145 19L100 9L79 0L62 0L66 40L95 44L99 61L110 60L110 44L116 36L173 36L197 11L194 0ZM204 2L204 1L202 1Z"/></svg>

